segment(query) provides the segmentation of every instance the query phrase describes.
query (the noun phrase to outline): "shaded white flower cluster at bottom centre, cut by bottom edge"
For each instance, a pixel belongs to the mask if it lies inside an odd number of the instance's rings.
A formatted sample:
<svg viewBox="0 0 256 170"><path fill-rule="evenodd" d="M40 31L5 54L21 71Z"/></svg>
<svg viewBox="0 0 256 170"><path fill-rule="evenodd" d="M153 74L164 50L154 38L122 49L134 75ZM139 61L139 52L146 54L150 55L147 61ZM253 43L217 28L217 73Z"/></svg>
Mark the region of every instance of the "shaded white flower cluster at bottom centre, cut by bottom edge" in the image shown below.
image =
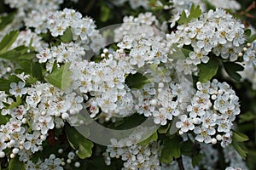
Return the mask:
<svg viewBox="0 0 256 170"><path fill-rule="evenodd" d="M137 144L141 139L140 133L132 134L128 139L119 141L112 139L112 145L109 145L103 153L106 164L110 165L111 158L120 158L125 161L122 170L160 169L160 145L157 142L150 142L147 145Z"/></svg>

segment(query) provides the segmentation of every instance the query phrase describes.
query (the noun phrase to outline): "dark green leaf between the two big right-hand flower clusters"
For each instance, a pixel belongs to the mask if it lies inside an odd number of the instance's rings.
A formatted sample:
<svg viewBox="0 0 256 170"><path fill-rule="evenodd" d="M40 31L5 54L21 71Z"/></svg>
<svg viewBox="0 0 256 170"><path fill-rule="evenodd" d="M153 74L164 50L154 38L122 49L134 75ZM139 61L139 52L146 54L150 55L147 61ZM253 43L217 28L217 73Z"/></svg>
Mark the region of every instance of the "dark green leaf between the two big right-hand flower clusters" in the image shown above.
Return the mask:
<svg viewBox="0 0 256 170"><path fill-rule="evenodd" d="M215 59L210 59L207 64L201 63L197 65L199 68L199 81L207 82L214 77L218 71L218 61Z"/></svg>

